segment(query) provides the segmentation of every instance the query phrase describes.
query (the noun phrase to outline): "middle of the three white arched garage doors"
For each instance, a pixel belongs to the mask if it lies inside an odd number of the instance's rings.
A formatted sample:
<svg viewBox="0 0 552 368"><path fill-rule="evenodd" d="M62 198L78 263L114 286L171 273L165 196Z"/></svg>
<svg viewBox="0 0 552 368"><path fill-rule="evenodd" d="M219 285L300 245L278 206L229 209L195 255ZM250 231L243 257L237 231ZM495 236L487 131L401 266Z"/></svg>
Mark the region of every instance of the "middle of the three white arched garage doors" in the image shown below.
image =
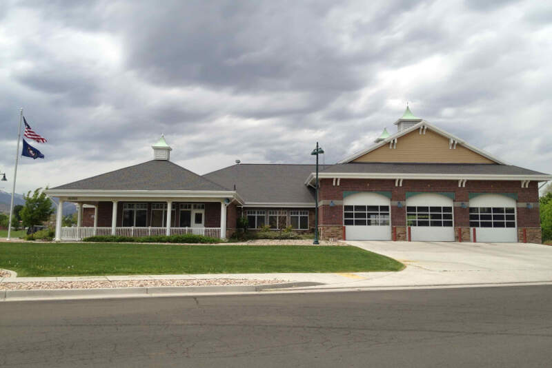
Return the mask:
<svg viewBox="0 0 552 368"><path fill-rule="evenodd" d="M454 241L452 198L437 193L407 198L406 225L411 241Z"/></svg>

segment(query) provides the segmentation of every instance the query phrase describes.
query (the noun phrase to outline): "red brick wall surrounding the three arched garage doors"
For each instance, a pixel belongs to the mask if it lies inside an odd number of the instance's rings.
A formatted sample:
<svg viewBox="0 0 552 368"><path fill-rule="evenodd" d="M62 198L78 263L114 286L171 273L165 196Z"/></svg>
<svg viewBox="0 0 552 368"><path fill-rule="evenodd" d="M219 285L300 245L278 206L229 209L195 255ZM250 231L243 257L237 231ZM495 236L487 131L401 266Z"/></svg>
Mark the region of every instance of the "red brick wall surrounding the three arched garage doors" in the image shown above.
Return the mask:
<svg viewBox="0 0 552 368"><path fill-rule="evenodd" d="M406 201L406 192L453 192L456 203L469 202L469 193L516 193L517 202L538 202L538 183L531 182L522 188L520 181L467 181L466 187L458 187L457 180L403 180L402 187L395 187L392 179L341 179L339 186L333 179L320 181L321 201L343 201L343 192L391 192L391 201ZM320 225L342 225L343 206L321 206ZM455 226L469 226L469 208L454 207ZM402 208L391 206L391 224L406 225L406 205ZM517 207L517 227L540 227L539 210Z"/></svg>

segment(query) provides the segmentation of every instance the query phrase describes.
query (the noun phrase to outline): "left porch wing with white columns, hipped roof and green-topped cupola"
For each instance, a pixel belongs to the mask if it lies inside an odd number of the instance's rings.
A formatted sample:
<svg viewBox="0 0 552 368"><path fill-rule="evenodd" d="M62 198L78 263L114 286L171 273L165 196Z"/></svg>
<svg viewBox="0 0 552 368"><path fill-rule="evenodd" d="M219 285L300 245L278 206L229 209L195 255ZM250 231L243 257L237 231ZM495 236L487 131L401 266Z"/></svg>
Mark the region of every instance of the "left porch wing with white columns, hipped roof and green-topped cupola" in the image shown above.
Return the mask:
<svg viewBox="0 0 552 368"><path fill-rule="evenodd" d="M170 162L172 148L164 136L152 148L151 161L46 190L59 198L55 240L176 234L226 238L228 207L244 203L235 188L228 190ZM75 227L62 226L64 202L77 205Z"/></svg>

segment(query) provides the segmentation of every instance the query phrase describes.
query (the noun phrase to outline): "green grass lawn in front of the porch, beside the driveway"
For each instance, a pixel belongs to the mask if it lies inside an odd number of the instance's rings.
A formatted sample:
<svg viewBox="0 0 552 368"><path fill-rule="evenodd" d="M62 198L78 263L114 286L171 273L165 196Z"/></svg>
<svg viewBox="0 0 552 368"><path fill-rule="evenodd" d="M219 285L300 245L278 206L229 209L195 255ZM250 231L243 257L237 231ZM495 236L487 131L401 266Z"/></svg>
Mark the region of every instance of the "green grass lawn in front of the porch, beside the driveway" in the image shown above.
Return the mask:
<svg viewBox="0 0 552 368"><path fill-rule="evenodd" d="M398 271L357 247L0 243L0 268L18 276Z"/></svg>

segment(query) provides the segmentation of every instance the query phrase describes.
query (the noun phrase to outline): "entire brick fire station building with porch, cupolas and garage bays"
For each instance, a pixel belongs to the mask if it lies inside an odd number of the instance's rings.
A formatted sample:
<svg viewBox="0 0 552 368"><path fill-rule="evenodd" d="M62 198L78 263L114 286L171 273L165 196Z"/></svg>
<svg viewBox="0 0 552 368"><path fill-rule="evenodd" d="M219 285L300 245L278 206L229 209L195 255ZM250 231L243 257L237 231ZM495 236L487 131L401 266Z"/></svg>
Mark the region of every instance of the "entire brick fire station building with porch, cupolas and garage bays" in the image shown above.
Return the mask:
<svg viewBox="0 0 552 368"><path fill-rule="evenodd" d="M408 108L395 125L319 172L322 238L541 242L538 183L551 175L505 163ZM57 239L226 238L240 216L252 229L314 230L315 165L237 164L199 176L169 161L163 137L153 150L152 161L48 190L79 209L77 227L58 217Z"/></svg>

